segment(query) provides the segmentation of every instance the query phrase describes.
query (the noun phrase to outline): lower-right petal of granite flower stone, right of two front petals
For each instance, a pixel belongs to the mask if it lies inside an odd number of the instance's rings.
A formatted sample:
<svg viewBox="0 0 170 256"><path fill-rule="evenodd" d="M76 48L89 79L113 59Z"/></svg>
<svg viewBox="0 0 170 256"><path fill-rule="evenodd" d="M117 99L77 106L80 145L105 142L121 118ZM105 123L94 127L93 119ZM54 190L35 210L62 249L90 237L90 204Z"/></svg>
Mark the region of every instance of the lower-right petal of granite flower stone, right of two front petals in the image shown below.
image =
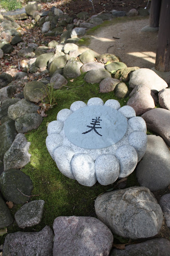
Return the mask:
<svg viewBox="0 0 170 256"><path fill-rule="evenodd" d="M138 154L134 147L129 145L120 146L115 153L115 156L119 160L120 173L119 178L125 178L129 176L138 162Z"/></svg>

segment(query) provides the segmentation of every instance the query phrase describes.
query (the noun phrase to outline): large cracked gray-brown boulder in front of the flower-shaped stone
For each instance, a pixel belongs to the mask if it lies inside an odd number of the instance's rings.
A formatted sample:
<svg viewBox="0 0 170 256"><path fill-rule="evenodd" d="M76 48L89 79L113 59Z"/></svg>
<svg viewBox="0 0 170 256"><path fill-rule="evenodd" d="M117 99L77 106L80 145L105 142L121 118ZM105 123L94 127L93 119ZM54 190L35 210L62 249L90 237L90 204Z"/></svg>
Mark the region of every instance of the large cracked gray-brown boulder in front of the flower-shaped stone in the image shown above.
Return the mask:
<svg viewBox="0 0 170 256"><path fill-rule="evenodd" d="M95 211L114 234L132 239L155 236L162 210L148 188L132 187L98 196Z"/></svg>

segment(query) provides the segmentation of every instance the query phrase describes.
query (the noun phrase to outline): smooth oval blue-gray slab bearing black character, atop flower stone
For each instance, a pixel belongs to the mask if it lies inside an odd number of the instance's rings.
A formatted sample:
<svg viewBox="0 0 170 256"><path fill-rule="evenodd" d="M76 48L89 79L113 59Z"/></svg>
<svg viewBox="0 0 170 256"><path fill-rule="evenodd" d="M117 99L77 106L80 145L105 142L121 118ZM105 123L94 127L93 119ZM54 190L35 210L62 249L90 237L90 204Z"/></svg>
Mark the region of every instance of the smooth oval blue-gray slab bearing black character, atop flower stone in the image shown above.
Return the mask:
<svg viewBox="0 0 170 256"><path fill-rule="evenodd" d="M80 108L64 123L65 136L81 148L106 148L121 140L126 132L127 118L108 106Z"/></svg>

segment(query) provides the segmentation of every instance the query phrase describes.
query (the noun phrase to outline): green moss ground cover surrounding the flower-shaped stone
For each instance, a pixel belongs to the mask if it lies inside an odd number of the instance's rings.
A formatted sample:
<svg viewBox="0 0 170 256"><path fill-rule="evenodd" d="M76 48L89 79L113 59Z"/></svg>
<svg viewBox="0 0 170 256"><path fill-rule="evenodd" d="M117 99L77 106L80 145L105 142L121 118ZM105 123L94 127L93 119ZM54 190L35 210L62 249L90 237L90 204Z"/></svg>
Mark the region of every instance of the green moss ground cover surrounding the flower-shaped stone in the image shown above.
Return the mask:
<svg viewBox="0 0 170 256"><path fill-rule="evenodd" d="M54 219L57 216L96 216L94 209L94 200L96 197L105 193L106 190L112 188L113 185L102 186L96 183L92 187L80 185L76 180L71 180L61 172L59 172L55 162L49 155L45 146L47 137L47 122L56 120L57 113L63 108L69 108L76 100L82 100L85 103L92 97L100 97L105 102L108 99L116 99L114 92L100 93L99 84L90 84L83 80L85 73L74 79L73 82L68 82L67 86L59 90L54 90L57 105L47 112L47 117L43 118L42 124L37 130L32 130L26 134L26 138L31 142L29 153L31 161L22 171L29 175L34 190L30 200L42 199L45 201L43 218L40 224L21 229L14 222L8 227L8 233L24 231L40 231L45 225L52 228ZM79 86L79 87L77 87ZM70 88L71 87L71 88ZM126 105L128 97L119 100L121 106ZM131 174L132 175L132 174ZM134 182L132 182L134 185ZM130 182L129 182L130 186ZM12 209L12 216L21 207L15 205ZM0 244L4 242L5 235L0 238Z"/></svg>

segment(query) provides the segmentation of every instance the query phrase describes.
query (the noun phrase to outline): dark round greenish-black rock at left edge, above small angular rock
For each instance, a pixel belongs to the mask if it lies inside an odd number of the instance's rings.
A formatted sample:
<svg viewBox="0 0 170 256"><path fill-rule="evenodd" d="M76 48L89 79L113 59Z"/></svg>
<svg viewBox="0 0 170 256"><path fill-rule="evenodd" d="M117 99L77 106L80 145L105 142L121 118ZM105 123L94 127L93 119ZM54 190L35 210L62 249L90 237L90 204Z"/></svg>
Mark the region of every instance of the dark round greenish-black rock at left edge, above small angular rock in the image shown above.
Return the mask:
<svg viewBox="0 0 170 256"><path fill-rule="evenodd" d="M28 201L33 186L30 177L24 172L10 169L2 172L0 176L0 190L6 201L11 201L14 204L24 204Z"/></svg>

